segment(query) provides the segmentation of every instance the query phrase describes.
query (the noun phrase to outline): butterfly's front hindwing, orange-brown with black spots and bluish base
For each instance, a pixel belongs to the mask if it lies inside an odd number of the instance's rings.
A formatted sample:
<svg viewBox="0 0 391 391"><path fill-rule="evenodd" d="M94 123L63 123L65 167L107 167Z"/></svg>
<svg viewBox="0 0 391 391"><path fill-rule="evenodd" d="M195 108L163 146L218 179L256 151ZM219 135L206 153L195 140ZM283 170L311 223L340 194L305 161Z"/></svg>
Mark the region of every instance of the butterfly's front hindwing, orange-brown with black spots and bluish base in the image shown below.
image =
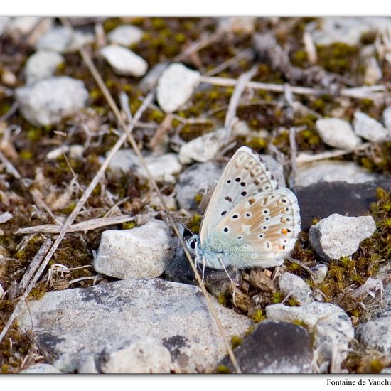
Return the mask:
<svg viewBox="0 0 391 391"><path fill-rule="evenodd" d="M274 267L294 249L300 232L296 196L287 188L250 195L215 225L203 243L205 264Z"/></svg>

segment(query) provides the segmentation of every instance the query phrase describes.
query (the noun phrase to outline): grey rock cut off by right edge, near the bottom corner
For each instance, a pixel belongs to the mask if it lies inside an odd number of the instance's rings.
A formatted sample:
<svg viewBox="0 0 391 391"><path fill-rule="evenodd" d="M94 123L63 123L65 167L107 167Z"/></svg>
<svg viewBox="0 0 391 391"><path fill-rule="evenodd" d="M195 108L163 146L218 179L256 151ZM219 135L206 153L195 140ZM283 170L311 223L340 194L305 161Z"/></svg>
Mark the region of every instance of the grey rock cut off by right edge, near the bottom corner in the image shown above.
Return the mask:
<svg viewBox="0 0 391 391"><path fill-rule="evenodd" d="M382 353L391 351L391 316L376 318L358 326L355 337L366 348Z"/></svg>

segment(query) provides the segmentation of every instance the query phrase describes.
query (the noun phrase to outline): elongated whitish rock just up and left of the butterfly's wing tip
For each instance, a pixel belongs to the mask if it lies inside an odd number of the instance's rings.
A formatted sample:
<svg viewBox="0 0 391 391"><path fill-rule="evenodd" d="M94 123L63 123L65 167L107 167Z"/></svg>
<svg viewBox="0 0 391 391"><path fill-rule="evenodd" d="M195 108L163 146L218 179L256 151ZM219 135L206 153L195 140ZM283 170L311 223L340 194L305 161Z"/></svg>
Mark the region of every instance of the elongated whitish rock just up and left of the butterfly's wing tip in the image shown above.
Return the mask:
<svg viewBox="0 0 391 391"><path fill-rule="evenodd" d="M188 164L191 161L205 163L205 161L213 160L221 148L227 144L227 137L227 129L221 128L188 141L179 150L179 161L182 164Z"/></svg>

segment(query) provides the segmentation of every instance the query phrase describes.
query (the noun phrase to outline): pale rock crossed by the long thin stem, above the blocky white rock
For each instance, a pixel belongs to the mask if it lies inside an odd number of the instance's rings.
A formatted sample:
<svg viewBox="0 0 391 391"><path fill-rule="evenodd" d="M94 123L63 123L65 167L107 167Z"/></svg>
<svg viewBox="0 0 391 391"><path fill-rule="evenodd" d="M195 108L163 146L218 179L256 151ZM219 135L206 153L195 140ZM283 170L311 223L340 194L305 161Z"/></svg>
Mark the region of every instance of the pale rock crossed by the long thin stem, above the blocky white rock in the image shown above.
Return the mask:
<svg viewBox="0 0 391 391"><path fill-rule="evenodd" d="M148 155L144 156L144 159L155 181L176 183L174 175L182 171L177 154ZM146 171L141 167L139 158L132 149L119 150L110 162L109 168L117 173L132 171L139 178L148 178Z"/></svg>

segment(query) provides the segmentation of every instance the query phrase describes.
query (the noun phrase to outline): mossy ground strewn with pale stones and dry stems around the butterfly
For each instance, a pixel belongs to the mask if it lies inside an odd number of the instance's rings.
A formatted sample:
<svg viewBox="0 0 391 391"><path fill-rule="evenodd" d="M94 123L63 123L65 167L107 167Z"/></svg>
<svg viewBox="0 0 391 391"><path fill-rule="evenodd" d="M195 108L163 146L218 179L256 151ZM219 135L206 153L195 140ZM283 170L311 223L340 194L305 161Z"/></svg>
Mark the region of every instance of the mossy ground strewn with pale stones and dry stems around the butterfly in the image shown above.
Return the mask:
<svg viewBox="0 0 391 391"><path fill-rule="evenodd" d="M198 232L247 145L302 223L280 267L205 271L240 369L390 373L390 27L0 18L1 371L237 370L167 213Z"/></svg>

